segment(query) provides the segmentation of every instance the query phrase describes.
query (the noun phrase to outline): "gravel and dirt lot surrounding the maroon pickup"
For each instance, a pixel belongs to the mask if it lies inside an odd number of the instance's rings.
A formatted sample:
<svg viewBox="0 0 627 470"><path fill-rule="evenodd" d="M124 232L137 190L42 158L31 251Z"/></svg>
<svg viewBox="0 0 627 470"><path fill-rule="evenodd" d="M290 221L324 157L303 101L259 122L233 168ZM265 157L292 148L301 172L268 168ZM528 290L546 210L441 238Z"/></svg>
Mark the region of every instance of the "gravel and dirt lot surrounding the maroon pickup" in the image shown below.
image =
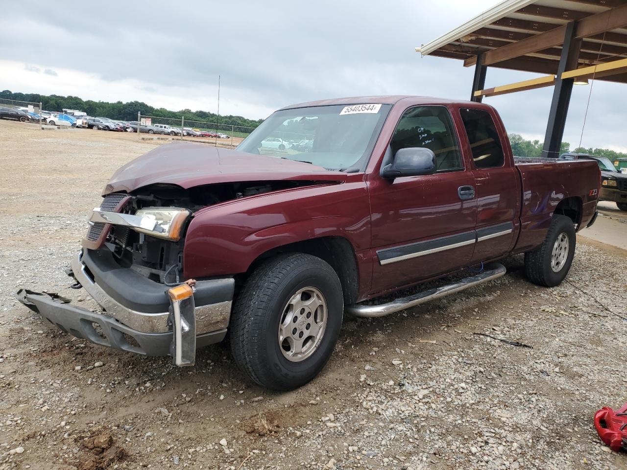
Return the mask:
<svg viewBox="0 0 627 470"><path fill-rule="evenodd" d="M489 285L345 321L322 374L284 394L221 345L177 369L18 305L23 286L91 305L63 269L113 170L160 143L0 122L0 469L627 468L592 425L627 401L627 251L593 239L557 288L518 256Z"/></svg>

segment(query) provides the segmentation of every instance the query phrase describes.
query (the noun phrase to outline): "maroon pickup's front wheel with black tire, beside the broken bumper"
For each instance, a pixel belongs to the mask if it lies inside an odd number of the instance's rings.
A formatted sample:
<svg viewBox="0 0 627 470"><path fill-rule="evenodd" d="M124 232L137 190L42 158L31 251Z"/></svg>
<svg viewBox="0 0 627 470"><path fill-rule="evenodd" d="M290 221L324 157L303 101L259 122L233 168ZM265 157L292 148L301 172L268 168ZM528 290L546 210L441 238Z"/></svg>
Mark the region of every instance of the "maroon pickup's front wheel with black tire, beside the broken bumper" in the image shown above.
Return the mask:
<svg viewBox="0 0 627 470"><path fill-rule="evenodd" d="M322 300L313 312L301 303L312 300L311 293ZM231 352L257 384L273 390L296 389L314 379L329 360L343 313L342 286L329 264L309 254L276 256L260 264L236 296L229 326ZM320 321L313 322L315 318ZM288 329L280 328L282 321L290 328L289 337L280 342L281 332ZM317 336L307 337L316 323L322 326ZM300 353L292 347L294 338L304 338Z"/></svg>

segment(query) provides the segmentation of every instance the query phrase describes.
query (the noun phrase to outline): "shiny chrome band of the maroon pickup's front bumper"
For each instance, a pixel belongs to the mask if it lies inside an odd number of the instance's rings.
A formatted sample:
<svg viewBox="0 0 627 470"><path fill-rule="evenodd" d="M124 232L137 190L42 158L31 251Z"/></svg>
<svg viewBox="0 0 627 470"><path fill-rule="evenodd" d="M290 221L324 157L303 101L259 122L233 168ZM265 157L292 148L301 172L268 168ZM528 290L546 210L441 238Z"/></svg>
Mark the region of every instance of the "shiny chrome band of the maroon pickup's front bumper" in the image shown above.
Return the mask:
<svg viewBox="0 0 627 470"><path fill-rule="evenodd" d="M132 310L119 301L108 295L97 283L87 274L87 266L83 263L81 250L71 261L71 268L76 281L80 283L93 300L100 305L107 315L112 316L129 328L143 333L167 333L172 331L169 321L169 311L160 313L147 313ZM201 281L206 283L233 283L233 279L213 279L212 281ZM167 287L164 286L164 298L166 298ZM231 317L231 301L222 301L209 305L196 306L196 334L223 330L229 324Z"/></svg>

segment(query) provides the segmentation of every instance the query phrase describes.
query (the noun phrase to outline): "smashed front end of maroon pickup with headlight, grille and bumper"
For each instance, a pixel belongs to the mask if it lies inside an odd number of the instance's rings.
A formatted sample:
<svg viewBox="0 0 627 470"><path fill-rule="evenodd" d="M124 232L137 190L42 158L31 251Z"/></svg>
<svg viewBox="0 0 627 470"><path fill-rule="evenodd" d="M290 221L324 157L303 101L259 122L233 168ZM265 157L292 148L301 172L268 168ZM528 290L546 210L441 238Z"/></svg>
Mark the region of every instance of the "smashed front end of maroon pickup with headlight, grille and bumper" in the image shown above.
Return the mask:
<svg viewBox="0 0 627 470"><path fill-rule="evenodd" d="M180 196L171 187L115 193L94 209L83 249L68 274L73 287L84 288L102 312L26 289L18 292L18 300L75 337L142 355L171 355L177 366L193 365L196 347L226 335L234 279L183 279L186 226L206 205Z"/></svg>

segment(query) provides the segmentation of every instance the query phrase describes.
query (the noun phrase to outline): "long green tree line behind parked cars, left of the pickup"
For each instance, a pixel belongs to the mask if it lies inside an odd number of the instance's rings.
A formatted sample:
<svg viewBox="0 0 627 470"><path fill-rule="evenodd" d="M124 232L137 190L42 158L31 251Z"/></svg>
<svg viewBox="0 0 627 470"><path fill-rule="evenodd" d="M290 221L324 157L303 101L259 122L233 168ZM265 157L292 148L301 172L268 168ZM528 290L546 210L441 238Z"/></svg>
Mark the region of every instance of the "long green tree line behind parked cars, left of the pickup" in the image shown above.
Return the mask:
<svg viewBox="0 0 627 470"><path fill-rule="evenodd" d="M223 115L219 116L208 111L192 111L189 109L171 111L165 108L154 108L144 102L132 101L115 103L82 100L78 97L61 97L59 95L40 95L39 93L13 93L10 90L0 91L0 99L28 101L33 103L41 103L41 107L46 111L61 112L65 109L75 109L84 111L88 116L101 116L110 119L119 119L124 121L137 120L137 113L140 112L145 116L156 116L163 118L180 119L184 116L186 120L218 122L220 124L257 127L263 122L263 119L253 120L242 116Z"/></svg>

